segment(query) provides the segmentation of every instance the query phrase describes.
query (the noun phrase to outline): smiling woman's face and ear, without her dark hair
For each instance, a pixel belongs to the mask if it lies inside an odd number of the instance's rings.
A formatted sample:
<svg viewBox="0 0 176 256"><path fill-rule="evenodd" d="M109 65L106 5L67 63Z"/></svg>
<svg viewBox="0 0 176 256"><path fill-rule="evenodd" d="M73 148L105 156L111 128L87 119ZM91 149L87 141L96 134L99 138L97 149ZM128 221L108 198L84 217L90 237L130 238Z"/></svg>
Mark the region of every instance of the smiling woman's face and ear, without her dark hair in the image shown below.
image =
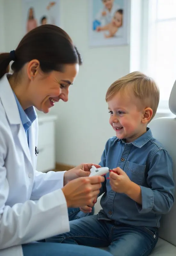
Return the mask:
<svg viewBox="0 0 176 256"><path fill-rule="evenodd" d="M31 60L24 68L29 79L27 91L30 105L48 113L59 100L68 101L69 86L78 74L79 64L65 64L62 72L44 73L39 61Z"/></svg>

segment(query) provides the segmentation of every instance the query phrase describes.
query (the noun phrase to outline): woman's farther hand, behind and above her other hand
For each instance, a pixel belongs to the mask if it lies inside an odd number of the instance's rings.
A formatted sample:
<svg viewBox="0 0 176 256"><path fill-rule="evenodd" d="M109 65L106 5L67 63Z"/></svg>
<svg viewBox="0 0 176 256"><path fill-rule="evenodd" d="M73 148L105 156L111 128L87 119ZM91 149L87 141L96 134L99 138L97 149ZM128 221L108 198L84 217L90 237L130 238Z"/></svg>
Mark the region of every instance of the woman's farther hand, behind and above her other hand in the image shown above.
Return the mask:
<svg viewBox="0 0 176 256"><path fill-rule="evenodd" d="M98 164L80 164L75 168L64 173L64 186L70 181L80 177L88 177L90 175L90 169L94 165L96 168L101 166Z"/></svg>

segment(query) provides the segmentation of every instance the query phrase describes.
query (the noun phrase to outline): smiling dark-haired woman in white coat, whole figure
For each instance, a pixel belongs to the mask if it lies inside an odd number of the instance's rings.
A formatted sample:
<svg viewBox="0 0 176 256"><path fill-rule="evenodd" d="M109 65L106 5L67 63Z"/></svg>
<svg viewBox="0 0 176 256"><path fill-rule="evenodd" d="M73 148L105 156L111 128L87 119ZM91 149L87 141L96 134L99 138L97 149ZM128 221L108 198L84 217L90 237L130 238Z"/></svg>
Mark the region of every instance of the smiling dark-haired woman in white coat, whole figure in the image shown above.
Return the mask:
<svg viewBox="0 0 176 256"><path fill-rule="evenodd" d="M67 207L91 204L104 181L88 177L92 164L68 172L36 171L34 107L48 113L59 100L66 102L80 64L70 37L53 25L31 30L15 51L0 54L1 256L111 255L92 247L44 242L69 231Z"/></svg>

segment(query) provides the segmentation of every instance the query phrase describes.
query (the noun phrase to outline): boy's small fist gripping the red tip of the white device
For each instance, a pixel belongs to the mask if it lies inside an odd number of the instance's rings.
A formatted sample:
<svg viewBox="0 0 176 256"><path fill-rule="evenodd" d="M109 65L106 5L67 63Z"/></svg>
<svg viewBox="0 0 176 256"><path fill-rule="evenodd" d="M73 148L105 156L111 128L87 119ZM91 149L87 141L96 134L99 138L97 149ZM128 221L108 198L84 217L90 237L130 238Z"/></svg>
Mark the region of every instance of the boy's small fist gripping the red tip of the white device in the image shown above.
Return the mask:
<svg viewBox="0 0 176 256"><path fill-rule="evenodd" d="M117 193L128 193L132 181L120 167L113 169L113 172L110 172L109 174L109 178L112 190Z"/></svg>

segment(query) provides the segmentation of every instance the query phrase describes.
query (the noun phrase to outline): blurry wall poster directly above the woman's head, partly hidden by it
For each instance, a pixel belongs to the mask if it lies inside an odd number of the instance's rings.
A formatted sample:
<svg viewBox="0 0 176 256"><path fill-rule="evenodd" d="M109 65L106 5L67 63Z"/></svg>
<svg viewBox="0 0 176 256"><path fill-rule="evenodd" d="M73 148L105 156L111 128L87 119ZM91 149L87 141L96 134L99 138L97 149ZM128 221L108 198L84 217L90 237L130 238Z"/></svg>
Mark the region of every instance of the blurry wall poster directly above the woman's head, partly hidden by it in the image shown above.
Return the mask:
<svg viewBox="0 0 176 256"><path fill-rule="evenodd" d="M23 33L44 25L60 25L60 1L23 0Z"/></svg>

